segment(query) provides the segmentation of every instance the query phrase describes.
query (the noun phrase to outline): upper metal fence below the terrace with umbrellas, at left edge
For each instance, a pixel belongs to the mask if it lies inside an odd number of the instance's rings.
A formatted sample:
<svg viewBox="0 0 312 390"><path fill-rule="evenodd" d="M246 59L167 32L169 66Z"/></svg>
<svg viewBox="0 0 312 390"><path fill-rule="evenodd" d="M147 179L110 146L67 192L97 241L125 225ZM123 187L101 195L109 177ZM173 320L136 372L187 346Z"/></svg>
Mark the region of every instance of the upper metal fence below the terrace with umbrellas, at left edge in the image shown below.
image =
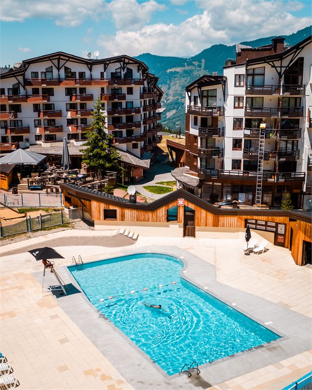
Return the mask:
<svg viewBox="0 0 312 390"><path fill-rule="evenodd" d="M0 194L0 203L5 206L63 206L62 194Z"/></svg>

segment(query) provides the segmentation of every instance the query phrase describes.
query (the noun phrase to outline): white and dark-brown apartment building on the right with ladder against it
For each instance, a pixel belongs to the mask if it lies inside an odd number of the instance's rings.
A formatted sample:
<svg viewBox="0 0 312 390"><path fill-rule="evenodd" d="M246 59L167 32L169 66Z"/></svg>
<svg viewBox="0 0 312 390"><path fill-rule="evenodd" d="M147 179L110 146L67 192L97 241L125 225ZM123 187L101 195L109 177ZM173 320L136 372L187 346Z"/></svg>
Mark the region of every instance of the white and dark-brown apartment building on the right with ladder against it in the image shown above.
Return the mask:
<svg viewBox="0 0 312 390"><path fill-rule="evenodd" d="M223 76L186 87L185 167L172 172L179 187L252 205L258 185L262 204L278 207L290 193L295 208L311 208L311 53L311 36L290 48L282 37L237 45Z"/></svg>

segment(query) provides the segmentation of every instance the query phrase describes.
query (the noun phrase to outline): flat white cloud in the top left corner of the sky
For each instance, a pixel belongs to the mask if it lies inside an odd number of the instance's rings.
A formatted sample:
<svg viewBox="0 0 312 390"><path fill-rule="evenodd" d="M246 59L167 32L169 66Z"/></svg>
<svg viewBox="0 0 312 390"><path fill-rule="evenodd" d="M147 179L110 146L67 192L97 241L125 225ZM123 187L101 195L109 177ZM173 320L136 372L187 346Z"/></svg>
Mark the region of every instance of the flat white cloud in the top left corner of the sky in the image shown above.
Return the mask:
<svg viewBox="0 0 312 390"><path fill-rule="evenodd" d="M54 19L57 26L79 26L86 18L106 15L105 0L2 0L4 22L24 22L28 18Z"/></svg>

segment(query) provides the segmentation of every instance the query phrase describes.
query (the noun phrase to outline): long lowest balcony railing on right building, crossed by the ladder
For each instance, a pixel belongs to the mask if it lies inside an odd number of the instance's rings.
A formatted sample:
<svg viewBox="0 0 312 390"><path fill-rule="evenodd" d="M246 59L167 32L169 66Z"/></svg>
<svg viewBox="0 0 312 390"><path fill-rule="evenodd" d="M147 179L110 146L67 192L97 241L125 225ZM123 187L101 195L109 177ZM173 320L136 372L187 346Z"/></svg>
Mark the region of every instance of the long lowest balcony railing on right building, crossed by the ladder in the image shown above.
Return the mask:
<svg viewBox="0 0 312 390"><path fill-rule="evenodd" d="M199 179L233 179L233 180L252 180L256 181L257 172L244 170L225 170L199 168ZM306 178L305 172L263 172L262 180L264 182L288 182L288 181L304 181Z"/></svg>

